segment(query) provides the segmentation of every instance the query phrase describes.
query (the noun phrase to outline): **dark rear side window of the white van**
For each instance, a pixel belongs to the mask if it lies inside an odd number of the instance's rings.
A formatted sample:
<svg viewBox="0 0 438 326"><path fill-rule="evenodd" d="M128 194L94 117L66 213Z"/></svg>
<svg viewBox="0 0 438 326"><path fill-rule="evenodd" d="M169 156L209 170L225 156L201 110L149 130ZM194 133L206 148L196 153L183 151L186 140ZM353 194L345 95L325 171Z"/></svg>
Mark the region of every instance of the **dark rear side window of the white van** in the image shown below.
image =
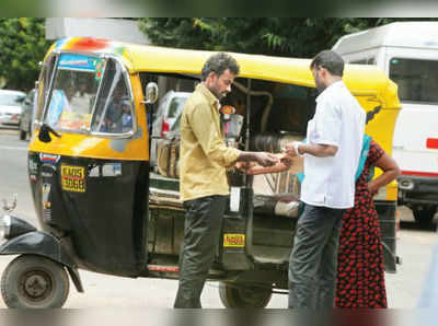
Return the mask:
<svg viewBox="0 0 438 326"><path fill-rule="evenodd" d="M438 61L392 58L390 78L402 102L438 102Z"/></svg>

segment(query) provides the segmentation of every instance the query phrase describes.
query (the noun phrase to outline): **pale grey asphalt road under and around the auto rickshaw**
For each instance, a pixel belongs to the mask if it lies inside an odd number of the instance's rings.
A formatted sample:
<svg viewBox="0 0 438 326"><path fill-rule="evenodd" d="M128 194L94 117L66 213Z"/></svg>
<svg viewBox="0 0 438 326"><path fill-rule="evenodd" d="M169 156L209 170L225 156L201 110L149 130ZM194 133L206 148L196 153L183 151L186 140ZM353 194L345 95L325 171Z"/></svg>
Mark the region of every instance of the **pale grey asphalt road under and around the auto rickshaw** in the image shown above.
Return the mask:
<svg viewBox="0 0 438 326"><path fill-rule="evenodd" d="M14 213L36 223L33 199L30 191L26 166L27 141L20 141L18 131L0 129L0 199L19 195ZM399 209L402 219L399 232L397 254L403 259L397 273L387 275L390 307L413 308L422 291L423 279L428 270L430 254L437 243L435 228L419 228L411 211ZM0 256L0 272L10 256ZM171 307L176 293L174 280L126 279L94 272L80 271L85 293L78 293L70 282L70 295L65 307ZM207 283L203 293L204 307L223 307L218 294L218 283ZM287 306L287 296L274 294L268 307ZM0 307L5 307L0 299Z"/></svg>

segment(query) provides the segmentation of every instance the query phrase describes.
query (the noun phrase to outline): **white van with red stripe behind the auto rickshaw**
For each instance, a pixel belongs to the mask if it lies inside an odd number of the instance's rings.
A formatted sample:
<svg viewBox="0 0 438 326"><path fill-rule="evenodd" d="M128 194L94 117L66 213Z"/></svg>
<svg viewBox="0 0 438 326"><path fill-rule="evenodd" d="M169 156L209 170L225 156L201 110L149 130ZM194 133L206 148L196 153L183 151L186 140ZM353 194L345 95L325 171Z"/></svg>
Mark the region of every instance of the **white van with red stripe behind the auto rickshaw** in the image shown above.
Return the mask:
<svg viewBox="0 0 438 326"><path fill-rule="evenodd" d="M392 155L402 170L399 203L417 222L438 206L438 22L397 22L339 38L333 46L348 63L377 65L399 85L402 110Z"/></svg>

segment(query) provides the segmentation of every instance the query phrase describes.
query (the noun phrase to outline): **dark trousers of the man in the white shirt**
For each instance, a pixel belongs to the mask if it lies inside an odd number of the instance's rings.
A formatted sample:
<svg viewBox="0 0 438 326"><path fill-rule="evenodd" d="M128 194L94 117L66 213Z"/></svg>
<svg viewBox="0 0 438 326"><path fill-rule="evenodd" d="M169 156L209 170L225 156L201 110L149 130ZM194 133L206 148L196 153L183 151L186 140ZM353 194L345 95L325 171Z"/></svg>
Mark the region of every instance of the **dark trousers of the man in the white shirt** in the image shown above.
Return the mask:
<svg viewBox="0 0 438 326"><path fill-rule="evenodd" d="M336 261L344 209L306 205L289 259L289 307L334 306Z"/></svg>

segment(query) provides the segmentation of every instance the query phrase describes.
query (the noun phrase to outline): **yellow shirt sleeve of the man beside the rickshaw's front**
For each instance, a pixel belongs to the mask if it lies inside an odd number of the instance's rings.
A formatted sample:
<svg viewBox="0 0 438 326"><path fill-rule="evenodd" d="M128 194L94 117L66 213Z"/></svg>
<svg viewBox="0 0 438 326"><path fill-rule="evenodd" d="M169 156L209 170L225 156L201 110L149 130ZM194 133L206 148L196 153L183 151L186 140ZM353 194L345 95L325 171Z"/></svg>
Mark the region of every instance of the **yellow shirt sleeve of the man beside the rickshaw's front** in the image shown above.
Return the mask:
<svg viewBox="0 0 438 326"><path fill-rule="evenodd" d="M198 104L193 109L189 124L203 151L211 161L224 167L235 163L240 151L224 144L215 126L211 108L207 104Z"/></svg>

